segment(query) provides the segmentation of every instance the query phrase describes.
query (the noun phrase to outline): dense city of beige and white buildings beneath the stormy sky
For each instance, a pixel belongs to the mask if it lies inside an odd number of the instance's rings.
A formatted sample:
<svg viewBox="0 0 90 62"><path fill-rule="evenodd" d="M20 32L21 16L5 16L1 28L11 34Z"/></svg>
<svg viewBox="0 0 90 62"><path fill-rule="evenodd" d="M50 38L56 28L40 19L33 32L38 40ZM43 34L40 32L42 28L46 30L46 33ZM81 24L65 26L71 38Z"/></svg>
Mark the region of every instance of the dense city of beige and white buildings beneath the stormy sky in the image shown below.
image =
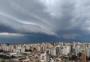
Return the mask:
<svg viewBox="0 0 90 62"><path fill-rule="evenodd" d="M0 62L89 62L89 43L0 44Z"/></svg>

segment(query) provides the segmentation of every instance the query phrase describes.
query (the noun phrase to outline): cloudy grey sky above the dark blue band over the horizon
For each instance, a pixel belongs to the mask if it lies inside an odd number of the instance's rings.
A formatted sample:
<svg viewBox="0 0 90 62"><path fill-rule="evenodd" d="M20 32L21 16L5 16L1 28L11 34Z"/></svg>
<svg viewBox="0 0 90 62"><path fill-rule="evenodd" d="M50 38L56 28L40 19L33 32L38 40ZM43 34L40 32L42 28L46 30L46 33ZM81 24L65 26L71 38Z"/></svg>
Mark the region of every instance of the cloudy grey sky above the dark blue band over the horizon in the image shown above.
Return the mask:
<svg viewBox="0 0 90 62"><path fill-rule="evenodd" d="M0 36L27 34L90 40L90 0L0 0Z"/></svg>

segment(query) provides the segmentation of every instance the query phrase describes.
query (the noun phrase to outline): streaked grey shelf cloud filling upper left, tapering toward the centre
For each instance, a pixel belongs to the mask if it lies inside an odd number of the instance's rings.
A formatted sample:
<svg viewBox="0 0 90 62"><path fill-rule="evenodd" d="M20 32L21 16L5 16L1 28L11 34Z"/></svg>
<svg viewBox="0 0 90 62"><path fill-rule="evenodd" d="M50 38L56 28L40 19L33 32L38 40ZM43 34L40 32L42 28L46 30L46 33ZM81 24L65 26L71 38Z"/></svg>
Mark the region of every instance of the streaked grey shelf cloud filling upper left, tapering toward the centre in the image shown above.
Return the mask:
<svg viewBox="0 0 90 62"><path fill-rule="evenodd" d="M1 24L17 32L41 32L54 34L44 15L43 7L35 0L8 0L0 2ZM48 29L50 28L50 29Z"/></svg>

